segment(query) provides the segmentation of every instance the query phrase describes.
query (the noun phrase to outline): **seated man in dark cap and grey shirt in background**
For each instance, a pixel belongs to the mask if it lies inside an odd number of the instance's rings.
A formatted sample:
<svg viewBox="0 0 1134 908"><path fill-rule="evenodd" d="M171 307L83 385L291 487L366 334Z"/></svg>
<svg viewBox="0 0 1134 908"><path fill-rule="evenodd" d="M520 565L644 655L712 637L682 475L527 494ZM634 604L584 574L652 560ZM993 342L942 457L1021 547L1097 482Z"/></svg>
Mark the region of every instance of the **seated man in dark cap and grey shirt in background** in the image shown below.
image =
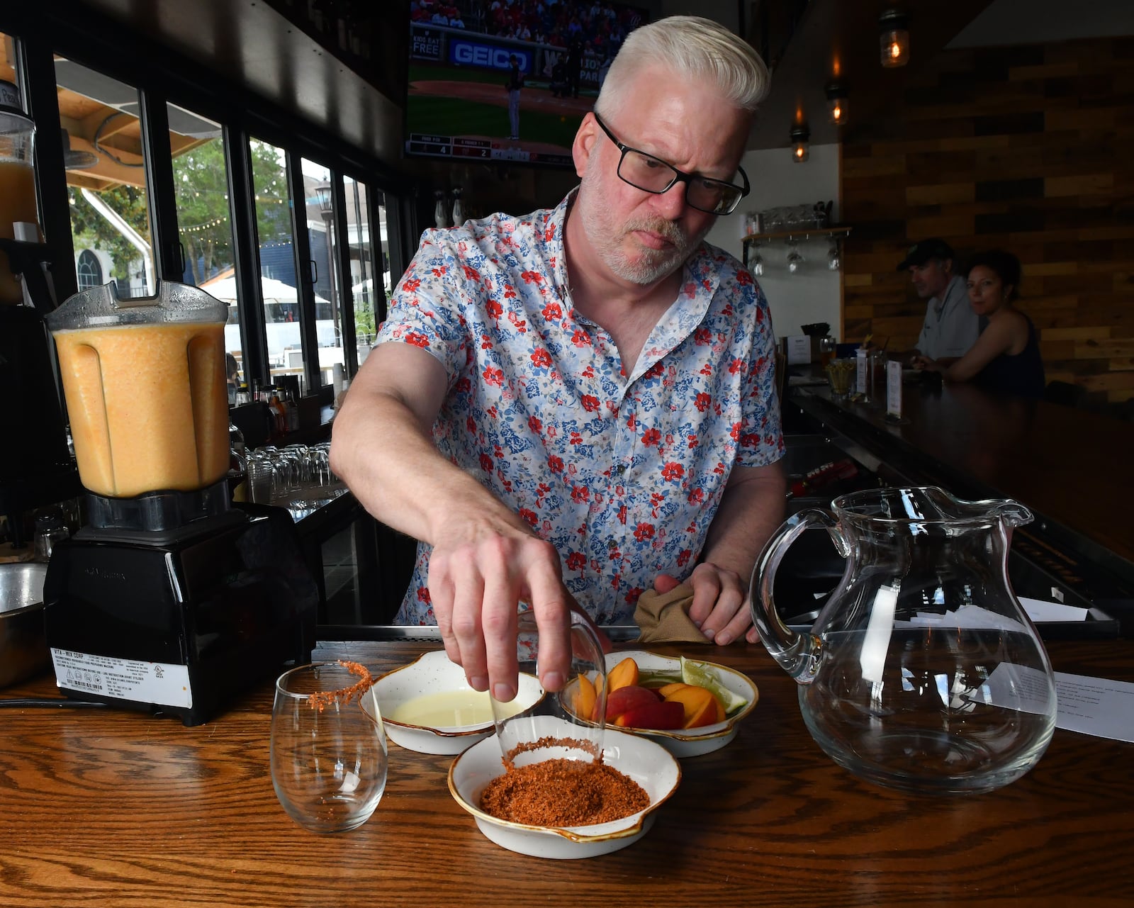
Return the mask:
<svg viewBox="0 0 1134 908"><path fill-rule="evenodd" d="M965 279L954 273L953 261L953 247L933 237L911 246L898 265L898 271L909 271L917 296L929 300L911 358L921 354L951 363L968 353L981 333L980 319L968 305Z"/></svg>

